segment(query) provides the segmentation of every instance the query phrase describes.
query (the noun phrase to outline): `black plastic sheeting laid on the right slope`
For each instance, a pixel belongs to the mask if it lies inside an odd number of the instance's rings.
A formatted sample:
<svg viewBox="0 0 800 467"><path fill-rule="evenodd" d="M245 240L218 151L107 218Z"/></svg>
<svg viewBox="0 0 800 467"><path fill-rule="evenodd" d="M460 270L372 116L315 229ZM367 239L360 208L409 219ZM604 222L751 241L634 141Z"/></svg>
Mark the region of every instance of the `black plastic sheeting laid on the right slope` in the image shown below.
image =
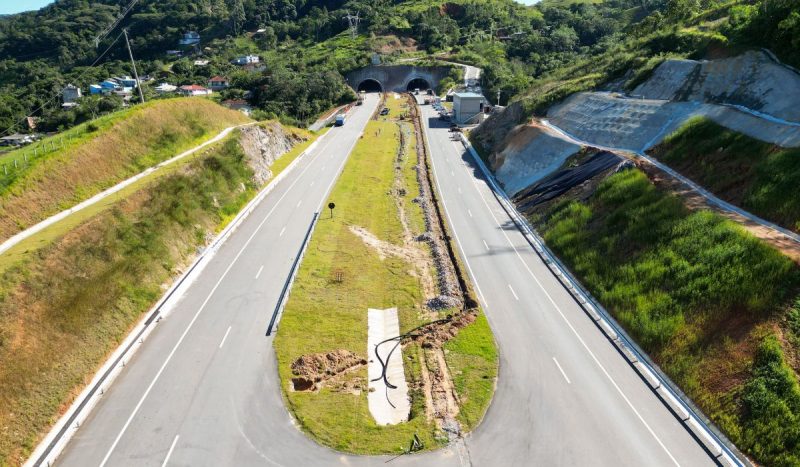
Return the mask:
<svg viewBox="0 0 800 467"><path fill-rule="evenodd" d="M589 157L585 162L576 167L559 170L519 192L514 200L519 204L520 211L550 201L570 188L580 185L595 175L623 163L625 159L612 152L602 151Z"/></svg>

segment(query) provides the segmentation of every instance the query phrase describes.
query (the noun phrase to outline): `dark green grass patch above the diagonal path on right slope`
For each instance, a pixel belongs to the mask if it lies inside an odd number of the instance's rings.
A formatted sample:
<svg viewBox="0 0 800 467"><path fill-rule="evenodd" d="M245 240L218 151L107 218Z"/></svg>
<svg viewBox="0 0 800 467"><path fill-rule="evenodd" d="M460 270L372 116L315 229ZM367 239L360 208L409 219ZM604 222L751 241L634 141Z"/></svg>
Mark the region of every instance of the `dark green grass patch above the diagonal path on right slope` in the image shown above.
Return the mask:
<svg viewBox="0 0 800 467"><path fill-rule="evenodd" d="M800 231L800 149L693 119L651 153L723 199Z"/></svg>

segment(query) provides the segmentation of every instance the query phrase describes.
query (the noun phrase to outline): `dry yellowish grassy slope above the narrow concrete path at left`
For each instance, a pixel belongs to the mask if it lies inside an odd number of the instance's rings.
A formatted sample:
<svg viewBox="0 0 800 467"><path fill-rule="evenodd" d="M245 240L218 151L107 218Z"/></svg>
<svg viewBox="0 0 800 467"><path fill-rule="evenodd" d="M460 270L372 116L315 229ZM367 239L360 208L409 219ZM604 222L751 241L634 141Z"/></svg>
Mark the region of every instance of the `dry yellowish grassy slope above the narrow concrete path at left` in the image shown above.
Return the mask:
<svg viewBox="0 0 800 467"><path fill-rule="evenodd" d="M80 125L63 135L63 149L31 160L0 184L0 239L247 121L190 98L153 101Z"/></svg>

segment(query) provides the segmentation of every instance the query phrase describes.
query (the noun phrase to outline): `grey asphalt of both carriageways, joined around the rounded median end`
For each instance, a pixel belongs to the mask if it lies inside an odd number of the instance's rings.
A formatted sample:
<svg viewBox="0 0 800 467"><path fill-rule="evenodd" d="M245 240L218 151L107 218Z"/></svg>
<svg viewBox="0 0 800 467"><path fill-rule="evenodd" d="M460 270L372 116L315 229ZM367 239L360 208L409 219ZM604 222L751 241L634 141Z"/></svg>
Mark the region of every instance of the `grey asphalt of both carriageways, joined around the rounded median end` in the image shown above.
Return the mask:
<svg viewBox="0 0 800 467"><path fill-rule="evenodd" d="M265 336L312 215L376 105L377 96L368 96L220 247L75 434L60 465L389 460L336 453L303 435L281 400L272 338ZM426 114L433 119L429 108ZM463 147L431 121L436 177L500 345L500 379L466 452L448 448L391 464L711 464L514 229Z"/></svg>

